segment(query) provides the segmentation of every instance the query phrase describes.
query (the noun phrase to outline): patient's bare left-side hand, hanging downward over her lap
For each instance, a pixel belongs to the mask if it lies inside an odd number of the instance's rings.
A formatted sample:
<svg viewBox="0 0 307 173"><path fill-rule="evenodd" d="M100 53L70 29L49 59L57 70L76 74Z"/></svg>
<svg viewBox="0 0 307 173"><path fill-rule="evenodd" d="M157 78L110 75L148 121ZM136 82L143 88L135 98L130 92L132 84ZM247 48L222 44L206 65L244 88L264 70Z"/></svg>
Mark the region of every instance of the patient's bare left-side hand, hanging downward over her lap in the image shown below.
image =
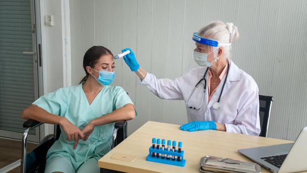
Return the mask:
<svg viewBox="0 0 307 173"><path fill-rule="evenodd" d="M67 140L76 140L78 138L83 139L84 134L77 126L73 125L68 119L63 117L60 121L60 126L62 127L63 131L67 135ZM79 137L80 136L80 137Z"/></svg>

